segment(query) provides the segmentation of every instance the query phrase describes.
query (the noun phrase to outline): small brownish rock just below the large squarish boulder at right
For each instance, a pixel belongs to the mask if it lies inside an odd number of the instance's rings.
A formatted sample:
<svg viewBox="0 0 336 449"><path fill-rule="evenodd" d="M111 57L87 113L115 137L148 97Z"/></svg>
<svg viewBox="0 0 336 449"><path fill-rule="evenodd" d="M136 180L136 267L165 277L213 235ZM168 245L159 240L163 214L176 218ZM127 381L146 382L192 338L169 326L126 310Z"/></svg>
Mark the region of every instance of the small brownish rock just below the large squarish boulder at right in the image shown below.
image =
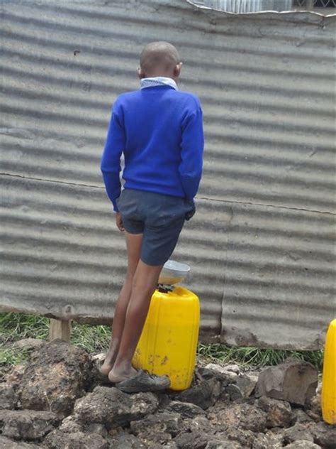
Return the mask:
<svg viewBox="0 0 336 449"><path fill-rule="evenodd" d="M262 396L257 401L260 409L266 411L266 427L288 427L293 421L293 414L289 402L278 401L267 396Z"/></svg>

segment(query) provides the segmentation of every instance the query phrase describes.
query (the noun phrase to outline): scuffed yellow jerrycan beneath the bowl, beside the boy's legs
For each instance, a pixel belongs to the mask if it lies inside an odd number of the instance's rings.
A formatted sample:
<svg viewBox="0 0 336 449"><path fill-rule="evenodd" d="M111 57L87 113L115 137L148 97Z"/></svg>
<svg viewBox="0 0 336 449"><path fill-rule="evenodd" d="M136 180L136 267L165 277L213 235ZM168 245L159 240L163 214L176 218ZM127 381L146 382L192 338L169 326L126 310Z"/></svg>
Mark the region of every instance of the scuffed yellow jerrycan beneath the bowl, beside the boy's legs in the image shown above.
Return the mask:
<svg viewBox="0 0 336 449"><path fill-rule="evenodd" d="M155 290L133 356L135 368L167 374L172 390L189 388L196 364L200 307L187 288Z"/></svg>

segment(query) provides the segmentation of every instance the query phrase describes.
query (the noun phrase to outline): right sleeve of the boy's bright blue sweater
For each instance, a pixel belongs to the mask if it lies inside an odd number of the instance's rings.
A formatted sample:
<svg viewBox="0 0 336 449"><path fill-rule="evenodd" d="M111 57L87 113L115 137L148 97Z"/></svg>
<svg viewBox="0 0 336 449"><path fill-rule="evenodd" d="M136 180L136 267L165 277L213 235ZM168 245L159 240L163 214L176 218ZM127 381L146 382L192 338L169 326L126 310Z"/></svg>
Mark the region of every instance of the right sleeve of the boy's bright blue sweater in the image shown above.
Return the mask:
<svg viewBox="0 0 336 449"><path fill-rule="evenodd" d="M186 195L192 202L201 181L203 168L203 114L201 105L186 114L182 123L181 163L179 175Z"/></svg>

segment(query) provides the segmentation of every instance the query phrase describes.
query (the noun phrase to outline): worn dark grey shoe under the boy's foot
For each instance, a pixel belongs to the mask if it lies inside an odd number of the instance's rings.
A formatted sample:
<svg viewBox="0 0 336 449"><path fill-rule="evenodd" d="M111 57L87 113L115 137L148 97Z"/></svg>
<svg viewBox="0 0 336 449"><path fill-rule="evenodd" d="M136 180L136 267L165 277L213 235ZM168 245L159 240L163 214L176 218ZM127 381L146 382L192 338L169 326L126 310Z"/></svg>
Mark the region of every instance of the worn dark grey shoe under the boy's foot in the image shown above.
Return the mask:
<svg viewBox="0 0 336 449"><path fill-rule="evenodd" d="M140 391L162 391L170 386L170 380L167 376L156 376L149 372L139 369L138 374L130 379L118 382L116 385L125 393L140 393Z"/></svg>

